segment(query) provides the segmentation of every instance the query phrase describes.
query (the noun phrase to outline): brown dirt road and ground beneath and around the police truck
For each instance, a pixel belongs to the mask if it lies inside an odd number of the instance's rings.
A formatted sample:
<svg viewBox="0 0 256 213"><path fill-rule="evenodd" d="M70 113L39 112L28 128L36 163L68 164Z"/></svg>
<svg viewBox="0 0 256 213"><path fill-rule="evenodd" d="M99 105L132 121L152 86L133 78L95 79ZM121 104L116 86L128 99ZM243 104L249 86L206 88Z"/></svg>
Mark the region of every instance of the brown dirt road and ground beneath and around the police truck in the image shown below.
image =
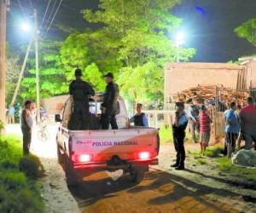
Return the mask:
<svg viewBox="0 0 256 213"><path fill-rule="evenodd" d="M172 144L161 146L160 165L151 167L137 185L117 171L97 173L84 178L79 187L67 188L56 160L55 130L55 126L50 127L50 141L34 140L32 145L46 170L40 181L47 213L256 212L255 190L230 185L219 176L218 164L212 159L207 159L208 164L196 164L195 158L188 156L186 170L171 169L175 158ZM9 131L19 130L12 127ZM190 151L198 148L196 144L186 145Z"/></svg>

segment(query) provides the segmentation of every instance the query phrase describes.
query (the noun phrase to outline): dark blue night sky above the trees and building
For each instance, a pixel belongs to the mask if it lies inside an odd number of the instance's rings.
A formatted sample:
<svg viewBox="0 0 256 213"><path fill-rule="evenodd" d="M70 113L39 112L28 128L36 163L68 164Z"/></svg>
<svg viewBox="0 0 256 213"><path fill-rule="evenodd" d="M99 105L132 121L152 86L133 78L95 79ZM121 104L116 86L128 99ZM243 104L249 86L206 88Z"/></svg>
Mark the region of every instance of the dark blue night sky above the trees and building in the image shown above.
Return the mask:
<svg viewBox="0 0 256 213"><path fill-rule="evenodd" d="M52 0L54 3L55 1ZM32 19L32 7L29 0L20 0L27 19ZM38 9L38 22L44 16L48 0L32 0ZM52 3L52 5L53 5ZM64 0L61 9L55 17L56 23L80 30L96 28L87 23L80 13L81 9L96 9L96 0ZM50 10L49 10L50 11ZM236 60L242 55L256 53L255 47L247 40L236 37L234 28L242 22L256 18L256 0L183 0L183 3L172 9L172 13L183 18L181 30L186 34L185 47L194 47L197 54L192 61L225 62ZM11 0L8 14L8 40L10 43L26 43L28 36L21 33L18 27L24 17L17 0ZM46 19L47 20L47 19ZM44 28L41 29L44 33ZM49 38L62 40L67 33L60 32L52 26Z"/></svg>

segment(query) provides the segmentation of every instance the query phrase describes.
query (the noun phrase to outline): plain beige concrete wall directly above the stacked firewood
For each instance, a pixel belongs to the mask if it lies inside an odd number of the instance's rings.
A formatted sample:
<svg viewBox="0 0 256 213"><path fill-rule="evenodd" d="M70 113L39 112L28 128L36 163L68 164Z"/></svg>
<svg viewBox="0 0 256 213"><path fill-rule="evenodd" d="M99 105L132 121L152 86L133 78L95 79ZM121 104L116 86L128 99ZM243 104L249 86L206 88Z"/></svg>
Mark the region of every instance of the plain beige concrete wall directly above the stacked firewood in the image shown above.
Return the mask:
<svg viewBox="0 0 256 213"><path fill-rule="evenodd" d="M166 63L165 95L177 95L184 89L223 84L236 89L238 73L244 66L226 63Z"/></svg>

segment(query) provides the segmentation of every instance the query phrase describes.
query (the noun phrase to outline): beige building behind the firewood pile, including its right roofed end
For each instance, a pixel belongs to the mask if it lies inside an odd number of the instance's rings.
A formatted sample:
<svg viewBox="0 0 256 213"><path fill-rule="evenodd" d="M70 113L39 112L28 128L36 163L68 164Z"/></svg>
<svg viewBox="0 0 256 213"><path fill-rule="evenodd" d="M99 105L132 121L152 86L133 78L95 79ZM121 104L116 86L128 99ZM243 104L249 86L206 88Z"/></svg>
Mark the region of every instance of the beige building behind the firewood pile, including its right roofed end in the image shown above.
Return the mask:
<svg viewBox="0 0 256 213"><path fill-rule="evenodd" d="M241 65L229 63L172 63L165 67L165 106L173 96L198 85L222 85L232 89L256 89L256 58L241 58Z"/></svg>

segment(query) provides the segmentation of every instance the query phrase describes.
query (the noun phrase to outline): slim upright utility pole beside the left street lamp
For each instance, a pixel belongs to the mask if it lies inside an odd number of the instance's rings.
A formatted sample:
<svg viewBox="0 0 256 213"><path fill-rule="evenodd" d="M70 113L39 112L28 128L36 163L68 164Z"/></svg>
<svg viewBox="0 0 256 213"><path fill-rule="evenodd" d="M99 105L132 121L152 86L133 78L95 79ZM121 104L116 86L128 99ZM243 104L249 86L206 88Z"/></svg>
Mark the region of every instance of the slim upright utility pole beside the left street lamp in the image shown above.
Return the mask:
<svg viewBox="0 0 256 213"><path fill-rule="evenodd" d="M39 60L38 60L38 14L37 10L34 9L35 18L35 53L36 53L36 86L37 86L37 121L40 123L40 91L39 91Z"/></svg>

